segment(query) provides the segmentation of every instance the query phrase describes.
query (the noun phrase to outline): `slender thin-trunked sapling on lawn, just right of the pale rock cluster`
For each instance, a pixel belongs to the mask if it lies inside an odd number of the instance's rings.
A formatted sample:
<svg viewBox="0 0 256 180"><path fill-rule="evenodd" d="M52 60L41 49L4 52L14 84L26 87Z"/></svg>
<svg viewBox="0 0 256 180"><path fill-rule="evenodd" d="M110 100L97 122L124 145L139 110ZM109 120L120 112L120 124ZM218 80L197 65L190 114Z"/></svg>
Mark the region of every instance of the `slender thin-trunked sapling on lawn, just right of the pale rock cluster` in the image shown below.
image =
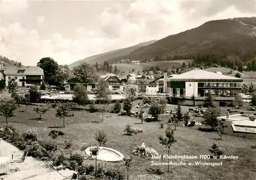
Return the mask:
<svg viewBox="0 0 256 180"><path fill-rule="evenodd" d="M160 144L168 148L168 157L169 157L170 147L172 147L172 145L177 142L176 139L174 138L174 130L170 127L170 125L168 125L165 130L165 136L166 138L163 138L163 136L159 136L158 138L159 138ZM168 158L167 168L168 168L167 172L169 172L169 158Z"/></svg>

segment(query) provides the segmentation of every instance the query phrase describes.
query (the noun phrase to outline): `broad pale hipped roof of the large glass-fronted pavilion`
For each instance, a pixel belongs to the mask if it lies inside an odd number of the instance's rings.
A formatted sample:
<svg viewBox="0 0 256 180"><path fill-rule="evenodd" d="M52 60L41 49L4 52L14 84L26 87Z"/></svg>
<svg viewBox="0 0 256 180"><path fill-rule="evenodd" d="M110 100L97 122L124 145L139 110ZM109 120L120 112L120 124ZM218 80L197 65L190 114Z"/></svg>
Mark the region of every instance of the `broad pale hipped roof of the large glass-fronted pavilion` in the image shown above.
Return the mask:
<svg viewBox="0 0 256 180"><path fill-rule="evenodd" d="M208 71L203 71L203 70L192 70L188 71L186 73L182 73L179 75L176 75L172 78L169 78L170 81L199 81L199 80L226 80L226 81L236 81L236 82L242 82L243 79L232 77L232 76L227 76L227 75L222 75L222 74L217 74L217 73L212 73Z"/></svg>

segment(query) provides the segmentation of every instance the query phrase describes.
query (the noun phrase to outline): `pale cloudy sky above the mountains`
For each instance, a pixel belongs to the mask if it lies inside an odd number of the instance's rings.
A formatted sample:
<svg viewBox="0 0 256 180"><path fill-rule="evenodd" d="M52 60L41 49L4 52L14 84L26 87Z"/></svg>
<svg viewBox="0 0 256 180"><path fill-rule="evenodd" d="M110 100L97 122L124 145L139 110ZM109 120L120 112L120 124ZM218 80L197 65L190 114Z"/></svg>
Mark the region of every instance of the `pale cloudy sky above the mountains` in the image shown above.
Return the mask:
<svg viewBox="0 0 256 180"><path fill-rule="evenodd" d="M70 64L209 20L256 16L256 0L0 1L0 55L24 65Z"/></svg>

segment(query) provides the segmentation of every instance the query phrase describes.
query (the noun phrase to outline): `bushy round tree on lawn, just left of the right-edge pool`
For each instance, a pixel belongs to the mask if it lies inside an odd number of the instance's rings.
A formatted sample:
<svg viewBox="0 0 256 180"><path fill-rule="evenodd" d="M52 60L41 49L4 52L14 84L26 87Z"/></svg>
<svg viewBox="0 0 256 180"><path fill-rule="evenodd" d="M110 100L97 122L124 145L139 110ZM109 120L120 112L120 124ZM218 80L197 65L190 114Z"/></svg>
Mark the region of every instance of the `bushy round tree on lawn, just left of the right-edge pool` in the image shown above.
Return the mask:
<svg viewBox="0 0 256 180"><path fill-rule="evenodd" d="M210 126L211 129L215 129L219 124L218 117L220 116L221 111L216 107L208 107L203 114L204 121L202 124Z"/></svg>

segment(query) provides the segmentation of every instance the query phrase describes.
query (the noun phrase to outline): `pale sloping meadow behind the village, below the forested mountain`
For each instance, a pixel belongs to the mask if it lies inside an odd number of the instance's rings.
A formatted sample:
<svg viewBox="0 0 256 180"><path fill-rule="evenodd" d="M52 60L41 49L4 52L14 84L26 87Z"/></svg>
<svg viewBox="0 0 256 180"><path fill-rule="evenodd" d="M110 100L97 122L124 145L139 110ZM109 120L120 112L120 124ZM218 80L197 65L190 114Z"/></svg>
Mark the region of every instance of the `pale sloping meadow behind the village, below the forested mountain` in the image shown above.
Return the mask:
<svg viewBox="0 0 256 180"><path fill-rule="evenodd" d="M156 66L158 65L160 70L161 69L172 69L173 66L181 67L182 63L185 62L188 64L189 62L192 62L193 60L173 60L173 61L154 61L154 62L147 62L147 63L140 63L140 64L112 64L113 68L115 65L117 66L117 69L120 70L120 72L126 72L129 73L129 71L132 72L134 69L135 74L139 72L142 72L143 68L150 68L150 66Z"/></svg>

